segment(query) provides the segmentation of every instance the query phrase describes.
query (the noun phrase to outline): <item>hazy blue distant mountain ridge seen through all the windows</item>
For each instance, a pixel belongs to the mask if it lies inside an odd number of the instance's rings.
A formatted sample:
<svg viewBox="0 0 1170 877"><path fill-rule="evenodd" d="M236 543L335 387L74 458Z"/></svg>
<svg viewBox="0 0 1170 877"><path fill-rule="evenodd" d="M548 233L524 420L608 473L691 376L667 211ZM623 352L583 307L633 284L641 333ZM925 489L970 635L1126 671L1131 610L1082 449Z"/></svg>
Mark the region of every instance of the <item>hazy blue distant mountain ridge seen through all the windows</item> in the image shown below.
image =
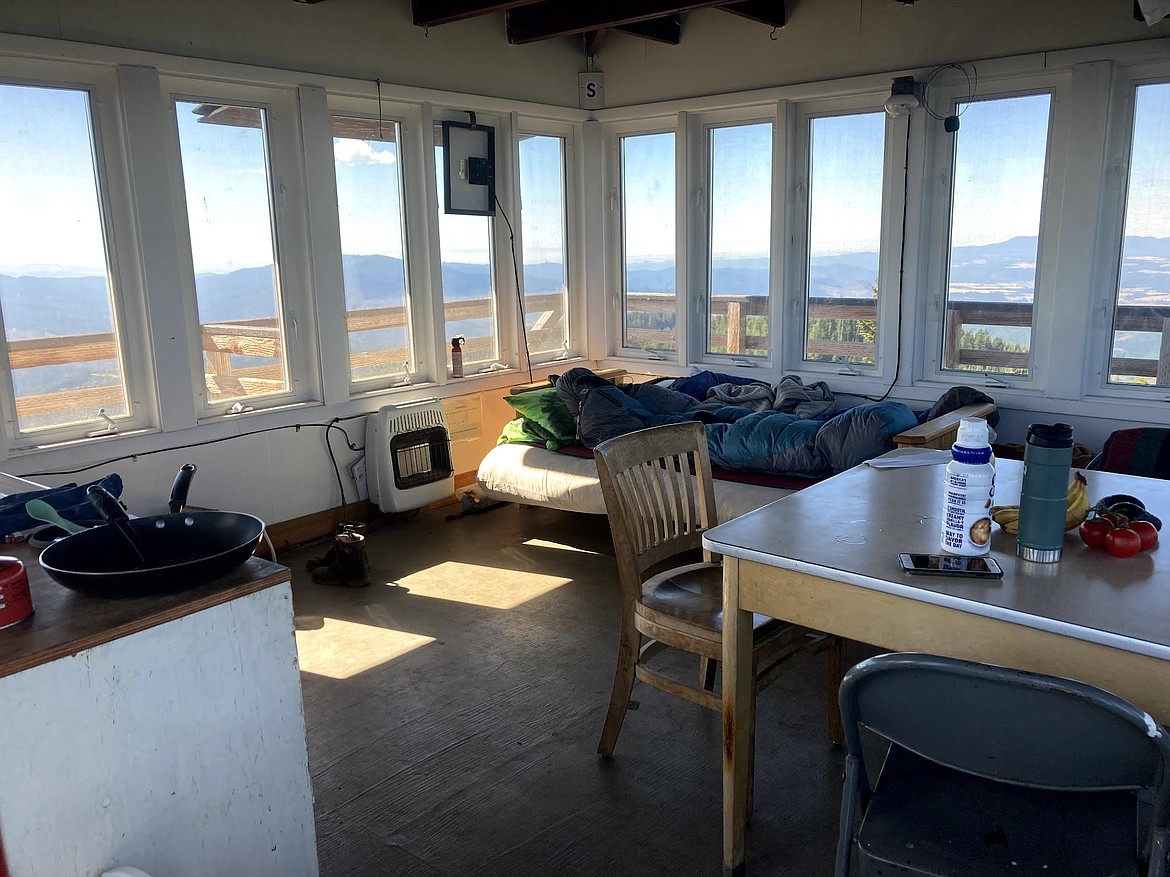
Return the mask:
<svg viewBox="0 0 1170 877"><path fill-rule="evenodd" d="M952 253L951 281L961 298L1018 301L1031 295L1035 237L1012 237L983 247L958 247ZM522 267L529 294L562 288L563 267L535 263ZM342 258L350 308L401 304L405 295L402 262L392 256L347 255ZM445 262L443 289L448 299L483 297L491 289L486 264ZM818 256L811 261L814 296L868 298L878 279L876 253ZM245 268L195 278L200 317L228 322L271 316L273 268ZM632 263L627 289L674 292L673 262ZM764 257L720 260L711 271L715 295L768 295L769 264ZM1129 237L1122 284L1131 290L1127 303L1170 303L1170 237ZM11 338L104 332L111 326L104 277L12 276L0 274L0 305Z"/></svg>

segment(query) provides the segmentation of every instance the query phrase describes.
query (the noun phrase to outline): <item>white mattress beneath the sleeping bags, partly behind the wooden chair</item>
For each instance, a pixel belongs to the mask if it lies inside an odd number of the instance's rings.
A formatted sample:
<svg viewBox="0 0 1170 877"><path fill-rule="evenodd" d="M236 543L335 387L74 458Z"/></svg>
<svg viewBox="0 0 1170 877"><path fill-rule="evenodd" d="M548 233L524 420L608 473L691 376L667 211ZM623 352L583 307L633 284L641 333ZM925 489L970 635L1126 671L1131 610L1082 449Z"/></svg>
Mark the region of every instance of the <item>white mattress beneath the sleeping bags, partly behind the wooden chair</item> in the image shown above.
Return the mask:
<svg viewBox="0 0 1170 877"><path fill-rule="evenodd" d="M589 457L555 454L530 444L497 444L480 463L480 489L493 499L605 515L597 464ZM720 520L731 520L787 496L786 488L715 481Z"/></svg>

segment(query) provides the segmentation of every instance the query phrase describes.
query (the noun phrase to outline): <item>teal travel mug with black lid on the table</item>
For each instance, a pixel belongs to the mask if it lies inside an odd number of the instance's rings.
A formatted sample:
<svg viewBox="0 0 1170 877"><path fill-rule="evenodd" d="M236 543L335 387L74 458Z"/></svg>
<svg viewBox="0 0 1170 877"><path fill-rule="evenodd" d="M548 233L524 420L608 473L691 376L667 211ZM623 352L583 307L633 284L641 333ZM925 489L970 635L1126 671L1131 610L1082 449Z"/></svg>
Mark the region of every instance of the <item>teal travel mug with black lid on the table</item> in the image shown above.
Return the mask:
<svg viewBox="0 0 1170 877"><path fill-rule="evenodd" d="M1067 423L1033 423L1024 442L1024 485L1016 553L1024 560L1060 560L1068 509L1068 477L1073 465L1073 428Z"/></svg>

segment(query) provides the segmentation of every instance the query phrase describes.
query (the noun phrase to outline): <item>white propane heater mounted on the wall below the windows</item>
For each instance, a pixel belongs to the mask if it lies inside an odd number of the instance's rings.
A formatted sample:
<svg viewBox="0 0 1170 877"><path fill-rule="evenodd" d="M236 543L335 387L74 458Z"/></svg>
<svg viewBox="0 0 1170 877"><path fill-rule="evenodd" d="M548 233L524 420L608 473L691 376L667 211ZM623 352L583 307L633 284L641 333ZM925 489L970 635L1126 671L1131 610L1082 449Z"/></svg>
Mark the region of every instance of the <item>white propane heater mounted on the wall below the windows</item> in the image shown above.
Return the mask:
<svg viewBox="0 0 1170 877"><path fill-rule="evenodd" d="M366 485L384 512L455 495L450 434L438 399L399 402L366 419Z"/></svg>

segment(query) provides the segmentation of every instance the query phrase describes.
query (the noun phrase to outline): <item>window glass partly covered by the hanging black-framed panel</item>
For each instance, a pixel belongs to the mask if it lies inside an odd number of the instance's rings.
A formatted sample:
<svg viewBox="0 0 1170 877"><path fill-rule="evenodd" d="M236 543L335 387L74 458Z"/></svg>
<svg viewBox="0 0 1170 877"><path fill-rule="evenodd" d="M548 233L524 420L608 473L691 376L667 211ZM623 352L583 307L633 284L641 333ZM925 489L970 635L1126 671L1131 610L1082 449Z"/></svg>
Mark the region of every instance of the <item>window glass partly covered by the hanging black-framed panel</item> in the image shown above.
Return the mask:
<svg viewBox="0 0 1170 877"><path fill-rule="evenodd" d="M439 178L439 254L442 262L443 334L463 336L464 374L500 359L496 295L491 276L491 217L445 213L442 125L436 124L435 174ZM447 368L450 368L448 355Z"/></svg>

